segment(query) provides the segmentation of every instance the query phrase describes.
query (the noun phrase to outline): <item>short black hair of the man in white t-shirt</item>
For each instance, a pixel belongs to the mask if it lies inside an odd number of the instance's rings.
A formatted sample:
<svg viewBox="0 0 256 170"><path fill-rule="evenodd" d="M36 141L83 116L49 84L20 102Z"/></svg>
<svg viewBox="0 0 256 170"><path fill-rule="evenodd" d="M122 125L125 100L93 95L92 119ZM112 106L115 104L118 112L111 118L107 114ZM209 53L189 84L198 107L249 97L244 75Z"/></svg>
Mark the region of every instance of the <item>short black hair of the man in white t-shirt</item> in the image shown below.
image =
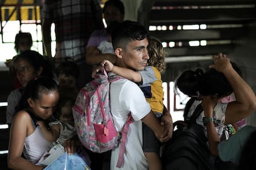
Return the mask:
<svg viewBox="0 0 256 170"><path fill-rule="evenodd" d="M140 23L126 20L114 26L111 38L114 49L117 47L125 49L130 41L148 39L149 33Z"/></svg>

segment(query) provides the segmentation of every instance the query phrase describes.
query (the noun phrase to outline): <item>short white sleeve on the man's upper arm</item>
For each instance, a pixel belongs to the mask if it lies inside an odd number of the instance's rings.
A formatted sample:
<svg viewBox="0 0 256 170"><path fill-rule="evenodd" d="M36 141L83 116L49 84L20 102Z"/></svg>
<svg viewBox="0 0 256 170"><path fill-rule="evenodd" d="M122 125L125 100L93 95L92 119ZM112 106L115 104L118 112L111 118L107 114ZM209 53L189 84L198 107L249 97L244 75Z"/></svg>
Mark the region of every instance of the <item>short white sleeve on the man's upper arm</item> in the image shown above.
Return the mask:
<svg viewBox="0 0 256 170"><path fill-rule="evenodd" d="M121 104L132 114L135 121L139 121L150 113L150 105L137 84L128 81L121 91Z"/></svg>

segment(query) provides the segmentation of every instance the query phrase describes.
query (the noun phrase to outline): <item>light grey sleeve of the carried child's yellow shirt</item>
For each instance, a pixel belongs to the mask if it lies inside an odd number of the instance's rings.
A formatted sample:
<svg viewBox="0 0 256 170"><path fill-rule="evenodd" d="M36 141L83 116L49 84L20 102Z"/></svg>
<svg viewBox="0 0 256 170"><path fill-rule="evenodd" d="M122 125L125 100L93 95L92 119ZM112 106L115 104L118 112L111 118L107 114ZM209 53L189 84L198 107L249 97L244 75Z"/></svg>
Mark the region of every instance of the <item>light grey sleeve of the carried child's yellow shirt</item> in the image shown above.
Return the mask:
<svg viewBox="0 0 256 170"><path fill-rule="evenodd" d="M140 86L151 84L156 81L155 71L153 67L147 66L145 70L139 71L140 75L142 75L142 84Z"/></svg>

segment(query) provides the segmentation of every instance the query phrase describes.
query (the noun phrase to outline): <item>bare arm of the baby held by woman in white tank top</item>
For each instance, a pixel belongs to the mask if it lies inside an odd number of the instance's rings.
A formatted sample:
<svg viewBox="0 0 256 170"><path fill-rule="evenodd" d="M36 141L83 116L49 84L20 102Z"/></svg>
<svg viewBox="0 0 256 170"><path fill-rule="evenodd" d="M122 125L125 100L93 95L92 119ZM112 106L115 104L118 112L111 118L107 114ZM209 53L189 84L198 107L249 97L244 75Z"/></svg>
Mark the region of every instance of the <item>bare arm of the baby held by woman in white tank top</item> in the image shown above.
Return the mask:
<svg viewBox="0 0 256 170"><path fill-rule="evenodd" d="M49 129L45 126L43 121L37 121L36 124L41 128L43 136L49 142L55 142L58 137L59 133L61 132L61 127L59 124L53 124Z"/></svg>

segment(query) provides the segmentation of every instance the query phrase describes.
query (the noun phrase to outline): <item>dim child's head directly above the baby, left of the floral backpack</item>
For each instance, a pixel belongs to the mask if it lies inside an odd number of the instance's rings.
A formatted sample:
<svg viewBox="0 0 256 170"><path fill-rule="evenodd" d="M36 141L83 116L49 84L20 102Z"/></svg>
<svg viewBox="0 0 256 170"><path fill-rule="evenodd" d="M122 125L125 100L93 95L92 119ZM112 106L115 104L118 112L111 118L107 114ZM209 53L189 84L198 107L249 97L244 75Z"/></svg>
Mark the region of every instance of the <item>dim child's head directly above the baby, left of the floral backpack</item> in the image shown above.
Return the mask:
<svg viewBox="0 0 256 170"><path fill-rule="evenodd" d="M56 75L61 89L76 89L77 79L79 78L79 67L77 63L65 61L56 68Z"/></svg>

